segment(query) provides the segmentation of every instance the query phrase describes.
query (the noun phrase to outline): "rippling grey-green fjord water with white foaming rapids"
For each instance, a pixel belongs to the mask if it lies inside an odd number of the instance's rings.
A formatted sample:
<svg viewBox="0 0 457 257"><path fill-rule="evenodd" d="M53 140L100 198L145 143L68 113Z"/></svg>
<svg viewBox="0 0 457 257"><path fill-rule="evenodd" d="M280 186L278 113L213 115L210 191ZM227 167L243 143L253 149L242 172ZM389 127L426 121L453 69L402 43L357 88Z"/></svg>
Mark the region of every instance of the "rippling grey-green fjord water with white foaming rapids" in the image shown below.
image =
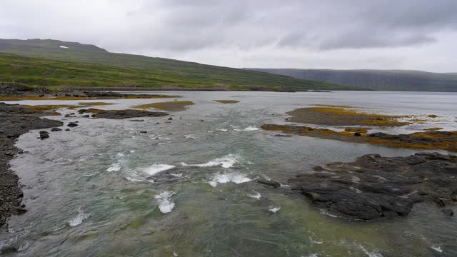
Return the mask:
<svg viewBox="0 0 457 257"><path fill-rule="evenodd" d="M11 166L25 185L29 211L9 219L8 231L0 232L0 248L16 247L19 253L12 256L457 256L456 220L431 203L416 205L407 218L348 221L287 193L288 178L316 165L353 161L367 153L408 156L421 150L276 137L259 128L283 123L284 113L298 107L332 104L383 114L438 115L430 119L433 124L386 130L395 133L433 126L457 130L457 94L164 94L195 105L170 112L169 123L168 116L142 122L70 118L79 121L71 131L53 132L43 141L37 131L21 136L17 146L29 152ZM219 104L216 99L240 102ZM114 105L97 108L126 109L153 101L170 100L107 100ZM282 186L264 188L256 178Z"/></svg>

